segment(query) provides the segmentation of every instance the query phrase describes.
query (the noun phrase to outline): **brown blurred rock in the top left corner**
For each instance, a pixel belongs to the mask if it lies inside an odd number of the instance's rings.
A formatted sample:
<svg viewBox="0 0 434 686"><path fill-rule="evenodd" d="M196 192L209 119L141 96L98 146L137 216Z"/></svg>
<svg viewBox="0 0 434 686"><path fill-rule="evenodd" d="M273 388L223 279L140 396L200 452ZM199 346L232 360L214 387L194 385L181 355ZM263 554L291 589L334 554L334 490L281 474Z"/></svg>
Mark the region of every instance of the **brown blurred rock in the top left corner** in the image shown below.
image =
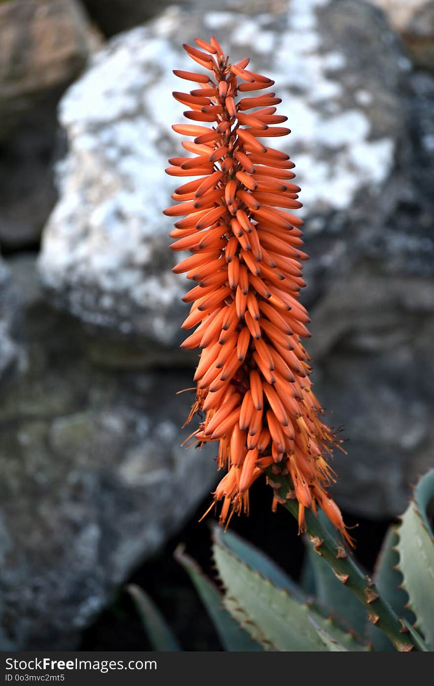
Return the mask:
<svg viewBox="0 0 434 686"><path fill-rule="evenodd" d="M23 112L82 70L92 40L75 0L0 4L0 139Z"/></svg>

